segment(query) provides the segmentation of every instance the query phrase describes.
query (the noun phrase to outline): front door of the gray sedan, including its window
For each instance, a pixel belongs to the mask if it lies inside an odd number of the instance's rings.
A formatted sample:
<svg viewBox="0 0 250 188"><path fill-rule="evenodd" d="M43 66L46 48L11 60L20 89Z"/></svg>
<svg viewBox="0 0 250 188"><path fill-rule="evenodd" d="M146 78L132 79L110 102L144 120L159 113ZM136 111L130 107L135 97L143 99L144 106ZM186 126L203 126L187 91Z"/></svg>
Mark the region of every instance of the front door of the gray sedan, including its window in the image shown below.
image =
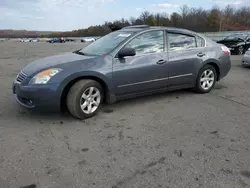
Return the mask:
<svg viewBox="0 0 250 188"><path fill-rule="evenodd" d="M162 30L142 33L124 48L134 48L132 57L114 58L113 80L116 95L140 93L167 87L168 54L165 32Z"/></svg>

